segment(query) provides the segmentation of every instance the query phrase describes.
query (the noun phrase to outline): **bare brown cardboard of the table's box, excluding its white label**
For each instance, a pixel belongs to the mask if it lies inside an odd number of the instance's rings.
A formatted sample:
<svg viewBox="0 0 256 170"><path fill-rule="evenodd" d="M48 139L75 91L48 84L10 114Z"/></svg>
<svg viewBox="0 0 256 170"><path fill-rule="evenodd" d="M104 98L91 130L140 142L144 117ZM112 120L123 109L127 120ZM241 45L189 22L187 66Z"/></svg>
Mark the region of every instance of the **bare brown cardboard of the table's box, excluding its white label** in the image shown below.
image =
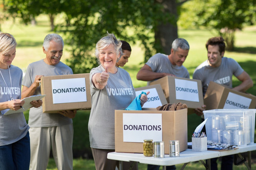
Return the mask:
<svg viewBox="0 0 256 170"><path fill-rule="evenodd" d="M115 110L115 151L126 153L143 153L143 141L123 142L123 113L157 113L162 114L163 141L165 142L165 154L169 154L170 140L180 141L180 152L187 146L187 109L175 111L159 110ZM153 132L152 132L153 133ZM154 142L154 141L153 141Z"/></svg>

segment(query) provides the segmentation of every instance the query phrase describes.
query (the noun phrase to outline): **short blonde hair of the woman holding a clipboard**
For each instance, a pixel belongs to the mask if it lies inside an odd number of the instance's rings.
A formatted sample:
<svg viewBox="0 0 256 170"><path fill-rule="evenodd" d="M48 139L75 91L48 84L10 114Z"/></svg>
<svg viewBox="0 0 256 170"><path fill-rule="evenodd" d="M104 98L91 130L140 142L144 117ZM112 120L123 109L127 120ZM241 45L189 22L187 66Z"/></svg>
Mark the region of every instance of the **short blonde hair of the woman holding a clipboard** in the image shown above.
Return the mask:
<svg viewBox="0 0 256 170"><path fill-rule="evenodd" d="M5 54L16 48L17 42L15 38L8 33L0 33L0 52Z"/></svg>

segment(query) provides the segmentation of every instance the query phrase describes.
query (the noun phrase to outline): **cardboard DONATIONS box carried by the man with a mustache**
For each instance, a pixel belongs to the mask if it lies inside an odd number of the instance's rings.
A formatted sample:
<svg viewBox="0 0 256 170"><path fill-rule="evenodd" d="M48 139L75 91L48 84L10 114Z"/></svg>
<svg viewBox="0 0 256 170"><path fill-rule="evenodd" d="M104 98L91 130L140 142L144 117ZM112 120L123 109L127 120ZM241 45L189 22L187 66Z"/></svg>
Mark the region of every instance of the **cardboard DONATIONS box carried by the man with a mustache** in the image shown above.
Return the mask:
<svg viewBox="0 0 256 170"><path fill-rule="evenodd" d="M56 113L59 110L82 110L91 108L89 73L42 76L41 94L43 112Z"/></svg>

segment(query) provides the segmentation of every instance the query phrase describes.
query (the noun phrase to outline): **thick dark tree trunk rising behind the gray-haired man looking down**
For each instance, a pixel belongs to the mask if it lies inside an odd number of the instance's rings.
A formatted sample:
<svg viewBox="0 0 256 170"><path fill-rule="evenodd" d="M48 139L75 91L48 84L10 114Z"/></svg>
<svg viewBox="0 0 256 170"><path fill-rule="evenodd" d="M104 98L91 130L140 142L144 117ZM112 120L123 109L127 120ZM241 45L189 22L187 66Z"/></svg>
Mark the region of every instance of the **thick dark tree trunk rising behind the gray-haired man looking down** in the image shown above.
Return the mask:
<svg viewBox="0 0 256 170"><path fill-rule="evenodd" d="M173 17L172 23L159 23L155 28L155 49L157 52L171 53L172 43L178 38L176 0L156 0L164 6L163 12Z"/></svg>

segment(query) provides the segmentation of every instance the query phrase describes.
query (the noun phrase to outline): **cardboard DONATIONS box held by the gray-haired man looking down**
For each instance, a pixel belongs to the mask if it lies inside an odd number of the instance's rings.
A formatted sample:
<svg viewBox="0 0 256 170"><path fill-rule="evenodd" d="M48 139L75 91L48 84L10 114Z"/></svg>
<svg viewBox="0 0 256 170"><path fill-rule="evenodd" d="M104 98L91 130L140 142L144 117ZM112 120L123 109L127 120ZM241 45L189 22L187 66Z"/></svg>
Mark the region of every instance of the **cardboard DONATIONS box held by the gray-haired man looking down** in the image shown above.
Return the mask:
<svg viewBox="0 0 256 170"><path fill-rule="evenodd" d="M162 86L168 103L182 102L187 104L189 114L203 105L201 80L164 76L150 83L150 85L156 84Z"/></svg>

